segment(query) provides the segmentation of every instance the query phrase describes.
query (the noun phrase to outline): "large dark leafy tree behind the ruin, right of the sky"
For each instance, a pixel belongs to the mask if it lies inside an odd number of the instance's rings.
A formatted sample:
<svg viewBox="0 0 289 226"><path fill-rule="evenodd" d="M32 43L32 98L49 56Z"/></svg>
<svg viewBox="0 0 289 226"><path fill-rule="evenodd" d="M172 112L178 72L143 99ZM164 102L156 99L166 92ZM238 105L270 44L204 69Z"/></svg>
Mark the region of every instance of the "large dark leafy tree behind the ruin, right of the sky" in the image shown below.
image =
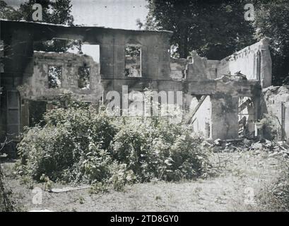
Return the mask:
<svg viewBox="0 0 289 226"><path fill-rule="evenodd" d="M223 59L254 42L252 23L244 20L244 0L148 0L146 29L172 30L179 57L195 50L209 59ZM138 20L138 25L142 25Z"/></svg>

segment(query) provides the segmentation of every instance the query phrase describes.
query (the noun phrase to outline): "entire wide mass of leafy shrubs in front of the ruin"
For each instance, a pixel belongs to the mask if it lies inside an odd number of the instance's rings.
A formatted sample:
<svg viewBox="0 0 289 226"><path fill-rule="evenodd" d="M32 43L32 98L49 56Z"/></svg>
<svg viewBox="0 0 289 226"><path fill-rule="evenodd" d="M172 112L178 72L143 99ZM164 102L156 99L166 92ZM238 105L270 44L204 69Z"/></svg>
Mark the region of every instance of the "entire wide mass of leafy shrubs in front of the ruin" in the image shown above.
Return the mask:
<svg viewBox="0 0 289 226"><path fill-rule="evenodd" d="M164 117L108 117L71 102L47 112L45 126L27 128L18 144L18 172L40 180L125 184L206 176L200 136Z"/></svg>

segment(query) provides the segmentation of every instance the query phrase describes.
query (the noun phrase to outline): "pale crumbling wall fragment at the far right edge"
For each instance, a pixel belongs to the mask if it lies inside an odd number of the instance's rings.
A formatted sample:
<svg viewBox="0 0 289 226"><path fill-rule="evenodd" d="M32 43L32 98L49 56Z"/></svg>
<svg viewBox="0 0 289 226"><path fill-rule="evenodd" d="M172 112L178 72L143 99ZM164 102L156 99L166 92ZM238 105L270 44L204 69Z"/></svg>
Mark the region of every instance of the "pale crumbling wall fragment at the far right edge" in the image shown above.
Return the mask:
<svg viewBox="0 0 289 226"><path fill-rule="evenodd" d="M263 90L263 95L262 113L277 117L283 138L289 141L289 85L270 86Z"/></svg>

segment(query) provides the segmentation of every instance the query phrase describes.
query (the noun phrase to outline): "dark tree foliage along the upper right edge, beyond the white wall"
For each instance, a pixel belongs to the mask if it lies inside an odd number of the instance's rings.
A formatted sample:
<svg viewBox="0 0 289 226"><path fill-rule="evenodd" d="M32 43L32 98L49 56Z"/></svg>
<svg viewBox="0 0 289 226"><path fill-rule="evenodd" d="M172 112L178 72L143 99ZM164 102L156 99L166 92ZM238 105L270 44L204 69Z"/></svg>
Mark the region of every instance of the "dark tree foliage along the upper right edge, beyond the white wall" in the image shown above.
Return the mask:
<svg viewBox="0 0 289 226"><path fill-rule="evenodd" d="M256 38L272 38L273 85L281 85L289 76L289 2L261 0L254 5Z"/></svg>

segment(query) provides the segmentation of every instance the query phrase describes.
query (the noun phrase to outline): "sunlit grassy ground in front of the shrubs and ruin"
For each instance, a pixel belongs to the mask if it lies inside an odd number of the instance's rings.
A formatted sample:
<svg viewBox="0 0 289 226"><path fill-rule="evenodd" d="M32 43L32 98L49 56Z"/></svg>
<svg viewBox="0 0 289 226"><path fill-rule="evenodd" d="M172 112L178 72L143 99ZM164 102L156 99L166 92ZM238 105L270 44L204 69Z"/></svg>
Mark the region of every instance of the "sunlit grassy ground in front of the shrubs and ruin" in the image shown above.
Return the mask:
<svg viewBox="0 0 289 226"><path fill-rule="evenodd" d="M42 205L33 204L31 184L13 174L13 163L4 163L5 182L20 210L54 211L250 211L269 210L256 195L284 169L287 158L264 150L215 153L216 177L190 182L151 182L126 186L125 191L91 194L89 189L64 193L43 192ZM67 185L66 185L67 186ZM54 184L53 187L63 187ZM254 197L250 192L254 192ZM247 192L247 193L246 193ZM248 193L249 192L249 193ZM255 199L255 200L254 200Z"/></svg>

